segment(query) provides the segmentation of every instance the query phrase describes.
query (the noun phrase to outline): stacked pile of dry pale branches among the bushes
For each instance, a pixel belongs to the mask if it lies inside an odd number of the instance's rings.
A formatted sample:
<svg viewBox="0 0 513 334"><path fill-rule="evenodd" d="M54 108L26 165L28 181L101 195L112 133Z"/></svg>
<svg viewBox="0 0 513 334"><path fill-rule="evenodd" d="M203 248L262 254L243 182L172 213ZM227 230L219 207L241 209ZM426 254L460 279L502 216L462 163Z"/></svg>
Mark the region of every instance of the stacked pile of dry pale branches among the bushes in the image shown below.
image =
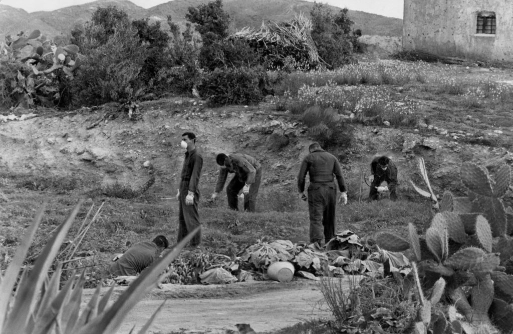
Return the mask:
<svg viewBox="0 0 513 334"><path fill-rule="evenodd" d="M258 30L245 27L231 37L247 40L265 60L271 62L271 66L283 67L288 57L295 62L292 65L323 67L326 63L319 57L310 35L311 28L311 21L300 14L286 22L262 23Z"/></svg>

